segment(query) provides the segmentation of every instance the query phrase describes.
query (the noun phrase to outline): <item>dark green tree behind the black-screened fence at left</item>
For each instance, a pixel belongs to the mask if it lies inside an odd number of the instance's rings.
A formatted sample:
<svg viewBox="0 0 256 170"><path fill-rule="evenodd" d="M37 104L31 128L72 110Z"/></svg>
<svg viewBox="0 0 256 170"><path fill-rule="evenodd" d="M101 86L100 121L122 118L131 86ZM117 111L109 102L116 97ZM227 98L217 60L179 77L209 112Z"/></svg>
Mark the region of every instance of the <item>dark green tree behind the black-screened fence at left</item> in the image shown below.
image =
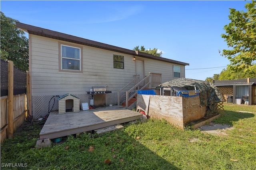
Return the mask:
<svg viewBox="0 0 256 170"><path fill-rule="evenodd" d="M1 59L12 60L14 66L28 70L28 39L25 32L16 28L16 22L1 12Z"/></svg>

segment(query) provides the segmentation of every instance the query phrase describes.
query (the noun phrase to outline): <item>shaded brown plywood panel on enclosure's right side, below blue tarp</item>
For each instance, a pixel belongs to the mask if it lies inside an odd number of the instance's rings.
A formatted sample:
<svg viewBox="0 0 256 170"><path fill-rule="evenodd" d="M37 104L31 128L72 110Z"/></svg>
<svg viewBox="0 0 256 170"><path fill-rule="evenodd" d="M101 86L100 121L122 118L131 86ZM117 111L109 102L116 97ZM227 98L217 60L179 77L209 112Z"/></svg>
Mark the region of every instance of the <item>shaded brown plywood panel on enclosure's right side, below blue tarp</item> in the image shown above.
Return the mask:
<svg viewBox="0 0 256 170"><path fill-rule="evenodd" d="M183 121L188 123L206 115L205 107L200 107L200 96L182 97Z"/></svg>

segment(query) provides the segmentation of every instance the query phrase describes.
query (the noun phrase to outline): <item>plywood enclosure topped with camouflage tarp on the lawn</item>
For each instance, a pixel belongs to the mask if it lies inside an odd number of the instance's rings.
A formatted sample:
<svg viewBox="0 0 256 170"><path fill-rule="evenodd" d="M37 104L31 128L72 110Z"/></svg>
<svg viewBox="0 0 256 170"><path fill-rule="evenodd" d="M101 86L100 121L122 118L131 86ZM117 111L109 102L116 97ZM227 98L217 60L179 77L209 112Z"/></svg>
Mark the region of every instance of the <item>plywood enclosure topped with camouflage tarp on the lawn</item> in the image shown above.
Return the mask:
<svg viewBox="0 0 256 170"><path fill-rule="evenodd" d="M160 95L138 95L136 111L166 119L182 129L190 122L219 115L218 103L222 95L213 84L184 78L173 81L156 88Z"/></svg>

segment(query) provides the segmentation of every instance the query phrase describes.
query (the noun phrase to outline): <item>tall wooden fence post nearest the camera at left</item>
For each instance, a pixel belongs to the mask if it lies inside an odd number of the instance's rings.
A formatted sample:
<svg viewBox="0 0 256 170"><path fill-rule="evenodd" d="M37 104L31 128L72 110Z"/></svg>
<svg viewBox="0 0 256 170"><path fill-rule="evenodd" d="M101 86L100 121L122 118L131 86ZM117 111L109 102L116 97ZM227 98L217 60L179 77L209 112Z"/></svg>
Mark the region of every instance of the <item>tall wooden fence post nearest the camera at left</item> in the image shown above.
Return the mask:
<svg viewBox="0 0 256 170"><path fill-rule="evenodd" d="M13 61L8 61L8 138L13 137Z"/></svg>

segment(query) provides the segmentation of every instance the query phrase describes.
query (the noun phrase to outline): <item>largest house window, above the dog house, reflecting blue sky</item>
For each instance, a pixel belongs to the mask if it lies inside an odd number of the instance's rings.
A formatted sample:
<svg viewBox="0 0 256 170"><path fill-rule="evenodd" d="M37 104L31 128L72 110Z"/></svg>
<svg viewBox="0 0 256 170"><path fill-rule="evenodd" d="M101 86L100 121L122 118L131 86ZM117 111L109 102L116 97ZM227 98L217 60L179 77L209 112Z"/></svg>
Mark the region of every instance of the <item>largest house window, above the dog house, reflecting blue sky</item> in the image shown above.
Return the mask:
<svg viewBox="0 0 256 170"><path fill-rule="evenodd" d="M81 71L81 48L60 45L61 69Z"/></svg>

